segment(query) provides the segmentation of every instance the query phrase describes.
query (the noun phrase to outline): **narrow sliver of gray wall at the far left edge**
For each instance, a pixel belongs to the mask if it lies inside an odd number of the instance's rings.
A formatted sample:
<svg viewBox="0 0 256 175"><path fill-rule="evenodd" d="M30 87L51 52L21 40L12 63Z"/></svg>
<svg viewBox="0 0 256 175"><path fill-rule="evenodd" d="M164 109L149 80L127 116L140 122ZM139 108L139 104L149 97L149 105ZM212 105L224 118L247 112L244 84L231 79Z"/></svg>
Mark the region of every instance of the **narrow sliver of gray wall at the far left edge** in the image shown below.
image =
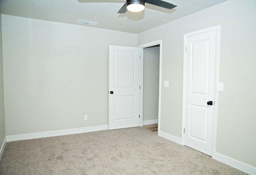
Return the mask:
<svg viewBox="0 0 256 175"><path fill-rule="evenodd" d="M2 20L0 13L0 148L5 139Z"/></svg>

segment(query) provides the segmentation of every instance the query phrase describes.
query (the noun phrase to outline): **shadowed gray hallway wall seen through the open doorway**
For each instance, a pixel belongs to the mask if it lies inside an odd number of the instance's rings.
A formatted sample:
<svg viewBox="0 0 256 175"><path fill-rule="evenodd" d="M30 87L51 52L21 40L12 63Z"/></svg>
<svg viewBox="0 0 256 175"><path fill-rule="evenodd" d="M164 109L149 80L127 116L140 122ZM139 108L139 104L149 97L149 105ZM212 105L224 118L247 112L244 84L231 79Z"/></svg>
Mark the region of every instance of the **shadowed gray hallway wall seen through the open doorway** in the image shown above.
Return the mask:
<svg viewBox="0 0 256 175"><path fill-rule="evenodd" d="M158 119L160 47L144 48L143 121Z"/></svg>

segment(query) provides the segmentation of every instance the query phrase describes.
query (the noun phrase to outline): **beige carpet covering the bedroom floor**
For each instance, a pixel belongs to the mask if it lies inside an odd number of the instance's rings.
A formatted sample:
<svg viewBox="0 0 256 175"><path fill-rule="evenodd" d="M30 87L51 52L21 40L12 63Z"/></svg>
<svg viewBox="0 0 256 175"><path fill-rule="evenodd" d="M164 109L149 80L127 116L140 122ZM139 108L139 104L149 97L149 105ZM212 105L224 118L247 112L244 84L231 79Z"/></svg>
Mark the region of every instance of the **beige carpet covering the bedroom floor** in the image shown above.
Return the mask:
<svg viewBox="0 0 256 175"><path fill-rule="evenodd" d="M12 141L0 175L242 175L142 127Z"/></svg>

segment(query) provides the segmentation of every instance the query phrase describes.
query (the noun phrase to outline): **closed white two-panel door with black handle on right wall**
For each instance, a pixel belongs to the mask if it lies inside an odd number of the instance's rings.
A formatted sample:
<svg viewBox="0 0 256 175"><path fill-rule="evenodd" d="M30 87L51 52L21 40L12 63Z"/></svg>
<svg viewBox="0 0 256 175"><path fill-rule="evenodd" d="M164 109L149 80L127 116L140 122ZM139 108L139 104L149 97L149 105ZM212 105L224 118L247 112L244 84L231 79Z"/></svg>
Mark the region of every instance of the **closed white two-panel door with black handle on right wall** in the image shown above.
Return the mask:
<svg viewBox="0 0 256 175"><path fill-rule="evenodd" d="M212 155L216 30L187 37L186 47L185 145Z"/></svg>

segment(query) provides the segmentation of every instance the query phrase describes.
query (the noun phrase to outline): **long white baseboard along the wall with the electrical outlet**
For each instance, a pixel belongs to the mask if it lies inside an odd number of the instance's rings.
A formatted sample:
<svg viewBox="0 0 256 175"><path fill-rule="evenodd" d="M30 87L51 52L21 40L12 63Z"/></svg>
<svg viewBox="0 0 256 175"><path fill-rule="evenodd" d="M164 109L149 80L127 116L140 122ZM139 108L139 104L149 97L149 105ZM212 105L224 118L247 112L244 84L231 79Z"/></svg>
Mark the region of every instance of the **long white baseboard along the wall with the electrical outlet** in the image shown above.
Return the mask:
<svg viewBox="0 0 256 175"><path fill-rule="evenodd" d="M8 135L6 137L8 142L8 141L36 139L36 138L43 138L43 137L53 137L53 136L59 136L59 135L86 133L86 132L101 131L101 130L107 130L107 129L108 129L108 125L100 125L100 126L92 126L92 127L64 129L64 130L57 130L57 131L46 131L46 132L39 132L39 133Z"/></svg>

